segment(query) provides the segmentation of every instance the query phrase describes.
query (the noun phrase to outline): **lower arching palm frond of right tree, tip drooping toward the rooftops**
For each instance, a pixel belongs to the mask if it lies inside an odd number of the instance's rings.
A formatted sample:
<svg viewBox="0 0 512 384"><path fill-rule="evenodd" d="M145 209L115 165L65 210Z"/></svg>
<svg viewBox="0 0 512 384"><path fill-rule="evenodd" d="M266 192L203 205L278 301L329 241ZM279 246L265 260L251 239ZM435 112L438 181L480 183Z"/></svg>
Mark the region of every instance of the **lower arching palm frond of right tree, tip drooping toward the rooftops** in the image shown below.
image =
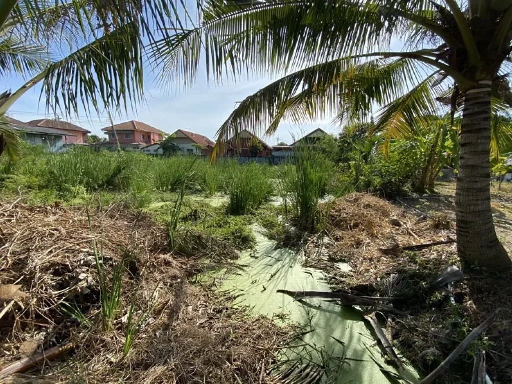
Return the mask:
<svg viewBox="0 0 512 384"><path fill-rule="evenodd" d="M347 108L364 114L374 103L389 103L402 95L418 79L418 68L410 59L357 64L357 60L347 58L297 71L242 101L218 131L216 152L243 130L270 135L282 119L301 123Z"/></svg>

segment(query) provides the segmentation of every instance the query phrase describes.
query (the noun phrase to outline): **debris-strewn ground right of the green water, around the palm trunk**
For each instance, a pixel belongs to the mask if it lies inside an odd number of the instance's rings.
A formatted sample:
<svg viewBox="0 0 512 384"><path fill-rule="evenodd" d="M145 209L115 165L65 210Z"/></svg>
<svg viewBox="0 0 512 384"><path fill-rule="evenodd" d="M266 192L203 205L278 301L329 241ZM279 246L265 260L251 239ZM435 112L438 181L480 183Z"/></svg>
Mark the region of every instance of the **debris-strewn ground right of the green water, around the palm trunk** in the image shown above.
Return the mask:
<svg viewBox="0 0 512 384"><path fill-rule="evenodd" d="M425 375L496 309L503 308L505 313L485 337L477 339L438 382L470 382L473 356L479 349L486 351L493 382L509 383L511 276L465 270L465 278L454 283L452 291L430 289L447 267L462 268L455 243L454 193L453 183L443 183L439 194L392 203L365 194L337 201L331 208L326 251L317 252L324 262L317 265L326 271L335 290L397 298L392 306L402 314L381 310L381 320L395 348ZM493 194L498 233L509 251L511 203L506 194ZM435 242L448 244L404 250ZM351 270L338 268L339 262L348 263Z"/></svg>

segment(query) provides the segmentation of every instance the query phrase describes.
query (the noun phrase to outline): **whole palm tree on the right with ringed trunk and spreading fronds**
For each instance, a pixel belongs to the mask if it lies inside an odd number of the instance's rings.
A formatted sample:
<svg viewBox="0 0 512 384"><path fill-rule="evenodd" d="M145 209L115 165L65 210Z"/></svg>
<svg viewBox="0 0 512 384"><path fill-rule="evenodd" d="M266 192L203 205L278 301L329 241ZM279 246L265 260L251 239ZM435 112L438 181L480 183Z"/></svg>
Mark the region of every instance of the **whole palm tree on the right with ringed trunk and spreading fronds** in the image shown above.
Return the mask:
<svg viewBox="0 0 512 384"><path fill-rule="evenodd" d="M272 134L283 119L336 115L360 122L381 109L375 131L392 137L436 112L461 109L456 193L460 258L512 266L490 207L493 99L509 101L512 6L492 0L211 1L200 25L162 39L163 75L195 78L201 59L220 81L283 76L247 97L218 132L218 147L247 129ZM402 48L392 49L399 41ZM204 56L203 56L204 55Z"/></svg>

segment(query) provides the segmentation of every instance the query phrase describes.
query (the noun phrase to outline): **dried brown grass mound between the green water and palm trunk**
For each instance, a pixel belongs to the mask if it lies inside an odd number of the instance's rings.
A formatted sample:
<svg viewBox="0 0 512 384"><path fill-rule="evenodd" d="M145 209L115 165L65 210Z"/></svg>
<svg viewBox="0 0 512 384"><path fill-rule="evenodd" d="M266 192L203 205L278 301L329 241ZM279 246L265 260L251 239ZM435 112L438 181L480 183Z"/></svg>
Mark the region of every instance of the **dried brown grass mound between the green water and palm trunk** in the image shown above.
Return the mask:
<svg viewBox="0 0 512 384"><path fill-rule="evenodd" d="M454 255L454 246L431 248L422 252L416 263L410 255L382 254L395 244L401 247L446 240L454 236L450 230L433 230L428 221L370 194L355 193L332 204L328 233L334 241L328 250L330 259L348 262L353 271L333 281L348 280L350 286L379 284L386 276L403 270L428 268L433 274L441 272ZM392 222L398 220L399 226ZM420 267L421 266L421 267Z"/></svg>

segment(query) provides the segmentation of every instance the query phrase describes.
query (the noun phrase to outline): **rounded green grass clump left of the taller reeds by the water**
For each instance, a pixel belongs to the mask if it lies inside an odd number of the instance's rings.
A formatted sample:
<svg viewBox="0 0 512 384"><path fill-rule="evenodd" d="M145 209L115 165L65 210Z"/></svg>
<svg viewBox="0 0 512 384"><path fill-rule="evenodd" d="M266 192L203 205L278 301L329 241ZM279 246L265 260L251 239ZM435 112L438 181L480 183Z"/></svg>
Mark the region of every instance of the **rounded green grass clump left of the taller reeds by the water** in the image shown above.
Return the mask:
<svg viewBox="0 0 512 384"><path fill-rule="evenodd" d="M272 194L272 183L258 164L233 168L230 176L227 189L231 215L246 215L258 209Z"/></svg>

